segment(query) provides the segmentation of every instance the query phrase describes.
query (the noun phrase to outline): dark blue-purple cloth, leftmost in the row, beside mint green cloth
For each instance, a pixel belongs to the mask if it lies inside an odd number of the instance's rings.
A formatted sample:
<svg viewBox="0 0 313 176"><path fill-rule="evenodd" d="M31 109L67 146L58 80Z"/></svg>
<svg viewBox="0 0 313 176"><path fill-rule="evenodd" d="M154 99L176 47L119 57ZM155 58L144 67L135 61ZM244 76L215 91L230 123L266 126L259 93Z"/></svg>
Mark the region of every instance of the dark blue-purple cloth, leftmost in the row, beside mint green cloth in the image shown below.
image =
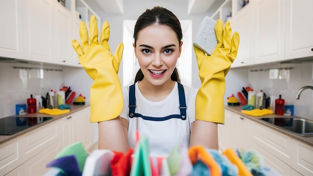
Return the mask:
<svg viewBox="0 0 313 176"><path fill-rule="evenodd" d="M77 159L74 155L68 155L54 159L46 164L46 167L56 167L61 169L58 175L81 175Z"/></svg>

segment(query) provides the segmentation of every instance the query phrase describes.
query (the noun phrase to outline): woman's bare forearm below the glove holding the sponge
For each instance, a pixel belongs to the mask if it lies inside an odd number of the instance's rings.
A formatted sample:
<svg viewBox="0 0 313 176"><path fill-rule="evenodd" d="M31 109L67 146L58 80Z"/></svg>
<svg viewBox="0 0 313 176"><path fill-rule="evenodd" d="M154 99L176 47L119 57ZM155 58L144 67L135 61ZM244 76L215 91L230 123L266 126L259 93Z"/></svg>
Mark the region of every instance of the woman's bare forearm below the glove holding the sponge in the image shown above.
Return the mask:
<svg viewBox="0 0 313 176"><path fill-rule="evenodd" d="M191 123L190 146L218 149L217 123L195 120Z"/></svg>

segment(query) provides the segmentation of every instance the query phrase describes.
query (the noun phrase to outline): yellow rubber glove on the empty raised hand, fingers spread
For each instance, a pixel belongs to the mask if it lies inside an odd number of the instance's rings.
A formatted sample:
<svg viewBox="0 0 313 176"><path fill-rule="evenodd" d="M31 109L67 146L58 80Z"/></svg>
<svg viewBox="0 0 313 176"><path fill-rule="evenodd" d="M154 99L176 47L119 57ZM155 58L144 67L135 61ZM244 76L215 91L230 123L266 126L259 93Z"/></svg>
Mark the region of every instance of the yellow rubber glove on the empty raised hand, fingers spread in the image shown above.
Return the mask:
<svg viewBox="0 0 313 176"><path fill-rule="evenodd" d="M102 25L100 42L98 42L94 15L89 21L89 36L84 22L80 22L79 33L81 46L75 39L72 41L72 46L78 54L80 64L94 80L90 87L90 122L113 119L120 114L123 105L121 84L117 76L123 43L116 47L112 55L108 45L107 21Z"/></svg>

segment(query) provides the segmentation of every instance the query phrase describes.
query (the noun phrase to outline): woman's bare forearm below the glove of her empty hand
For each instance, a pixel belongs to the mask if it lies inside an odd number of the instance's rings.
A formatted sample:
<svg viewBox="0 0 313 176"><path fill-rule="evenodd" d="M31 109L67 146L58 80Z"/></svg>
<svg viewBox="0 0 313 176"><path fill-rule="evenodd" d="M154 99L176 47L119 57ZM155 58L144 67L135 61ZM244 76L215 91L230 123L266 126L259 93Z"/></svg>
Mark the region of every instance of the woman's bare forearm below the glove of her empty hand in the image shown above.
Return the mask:
<svg viewBox="0 0 313 176"><path fill-rule="evenodd" d="M98 149L127 152L127 136L119 118L98 122Z"/></svg>

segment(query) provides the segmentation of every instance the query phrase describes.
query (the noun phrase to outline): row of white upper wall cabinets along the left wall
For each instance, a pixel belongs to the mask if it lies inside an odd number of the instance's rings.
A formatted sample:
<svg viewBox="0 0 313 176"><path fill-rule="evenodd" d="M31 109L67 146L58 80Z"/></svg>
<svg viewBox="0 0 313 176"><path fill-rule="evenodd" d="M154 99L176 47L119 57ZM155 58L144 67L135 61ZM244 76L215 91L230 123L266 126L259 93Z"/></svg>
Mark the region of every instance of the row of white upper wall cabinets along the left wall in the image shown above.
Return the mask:
<svg viewBox="0 0 313 176"><path fill-rule="evenodd" d="M77 6L76 6L77 2ZM77 9L86 9L78 12ZM72 39L79 40L81 16L94 14L83 0L0 0L0 57L78 66ZM78 15L77 15L78 13ZM88 25L87 17L84 22Z"/></svg>

